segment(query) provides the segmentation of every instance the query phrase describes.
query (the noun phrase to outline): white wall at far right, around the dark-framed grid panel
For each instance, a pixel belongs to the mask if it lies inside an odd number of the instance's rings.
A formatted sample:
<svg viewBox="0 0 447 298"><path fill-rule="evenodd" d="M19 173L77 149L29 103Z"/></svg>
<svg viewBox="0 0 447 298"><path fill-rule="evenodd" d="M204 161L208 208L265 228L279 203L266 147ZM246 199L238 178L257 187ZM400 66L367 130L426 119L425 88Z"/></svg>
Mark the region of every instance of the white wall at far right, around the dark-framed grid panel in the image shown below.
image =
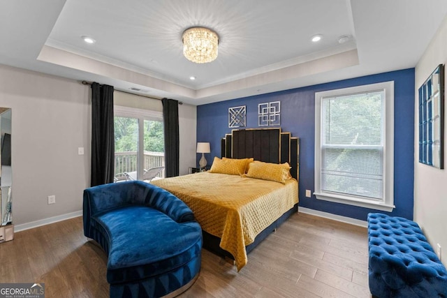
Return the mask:
<svg viewBox="0 0 447 298"><path fill-rule="evenodd" d="M417 42L417 40L415 40ZM444 119L444 170L418 163L418 89L439 64L447 62L447 17L416 66L414 220L423 228L434 251L441 244L447 265L447 121ZM447 80L444 82L447 87ZM447 114L444 113L444 117Z"/></svg>

